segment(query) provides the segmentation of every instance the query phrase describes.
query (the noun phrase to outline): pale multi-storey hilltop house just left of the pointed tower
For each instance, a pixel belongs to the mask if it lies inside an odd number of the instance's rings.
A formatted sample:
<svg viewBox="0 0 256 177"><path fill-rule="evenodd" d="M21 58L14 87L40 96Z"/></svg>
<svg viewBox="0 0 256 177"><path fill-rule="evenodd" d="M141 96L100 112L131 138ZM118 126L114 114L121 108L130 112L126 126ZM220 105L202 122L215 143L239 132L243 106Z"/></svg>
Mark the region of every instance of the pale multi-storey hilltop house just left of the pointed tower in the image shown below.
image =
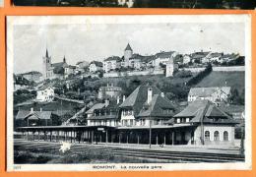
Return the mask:
<svg viewBox="0 0 256 177"><path fill-rule="evenodd" d="M121 68L122 59L118 56L111 56L103 61L103 70L105 73Z"/></svg>

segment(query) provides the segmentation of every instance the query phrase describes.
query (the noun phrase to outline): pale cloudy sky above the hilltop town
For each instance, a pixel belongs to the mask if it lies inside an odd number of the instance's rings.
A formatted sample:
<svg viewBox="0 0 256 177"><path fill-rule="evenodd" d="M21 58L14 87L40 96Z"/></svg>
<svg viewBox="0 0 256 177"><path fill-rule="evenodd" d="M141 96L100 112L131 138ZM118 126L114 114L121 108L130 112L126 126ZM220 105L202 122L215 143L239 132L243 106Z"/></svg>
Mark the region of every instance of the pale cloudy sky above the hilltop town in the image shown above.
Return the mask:
<svg viewBox="0 0 256 177"><path fill-rule="evenodd" d="M65 56L78 61L103 61L122 56L129 42L134 53L177 51L245 53L245 29L239 23L19 25L14 27L14 73L41 72L46 48L52 62Z"/></svg>

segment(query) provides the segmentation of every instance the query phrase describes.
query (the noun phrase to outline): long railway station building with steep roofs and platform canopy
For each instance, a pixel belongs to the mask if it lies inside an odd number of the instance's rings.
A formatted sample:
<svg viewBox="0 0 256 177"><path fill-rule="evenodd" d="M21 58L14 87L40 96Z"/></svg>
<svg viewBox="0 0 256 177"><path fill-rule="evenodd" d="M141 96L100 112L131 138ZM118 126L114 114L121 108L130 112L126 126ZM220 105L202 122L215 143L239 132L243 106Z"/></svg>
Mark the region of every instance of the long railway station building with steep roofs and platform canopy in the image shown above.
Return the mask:
<svg viewBox="0 0 256 177"><path fill-rule="evenodd" d="M30 126L16 131L25 138L90 144L234 145L236 122L215 103L195 100L177 112L177 106L155 86L139 86L122 102L96 103L86 114L86 125Z"/></svg>

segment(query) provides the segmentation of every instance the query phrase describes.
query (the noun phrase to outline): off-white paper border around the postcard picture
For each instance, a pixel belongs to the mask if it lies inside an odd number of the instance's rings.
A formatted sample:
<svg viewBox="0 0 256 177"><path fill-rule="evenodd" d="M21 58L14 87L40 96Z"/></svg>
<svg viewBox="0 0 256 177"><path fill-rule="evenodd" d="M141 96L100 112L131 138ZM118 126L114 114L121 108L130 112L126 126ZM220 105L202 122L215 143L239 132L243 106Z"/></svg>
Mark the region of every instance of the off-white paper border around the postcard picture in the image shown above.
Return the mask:
<svg viewBox="0 0 256 177"><path fill-rule="evenodd" d="M13 162L13 29L17 25L71 24L160 24L160 23L241 23L245 28L245 162L235 163L144 163L110 164L115 169L93 168L95 164L22 164ZM237 41L239 42L239 41ZM145 15L145 16L10 16L7 17L7 170L8 171L169 171L169 170L250 170L251 137L251 15ZM98 164L103 165L103 164ZM150 169L122 169L121 166L149 166ZM151 169L161 166L161 169Z"/></svg>

